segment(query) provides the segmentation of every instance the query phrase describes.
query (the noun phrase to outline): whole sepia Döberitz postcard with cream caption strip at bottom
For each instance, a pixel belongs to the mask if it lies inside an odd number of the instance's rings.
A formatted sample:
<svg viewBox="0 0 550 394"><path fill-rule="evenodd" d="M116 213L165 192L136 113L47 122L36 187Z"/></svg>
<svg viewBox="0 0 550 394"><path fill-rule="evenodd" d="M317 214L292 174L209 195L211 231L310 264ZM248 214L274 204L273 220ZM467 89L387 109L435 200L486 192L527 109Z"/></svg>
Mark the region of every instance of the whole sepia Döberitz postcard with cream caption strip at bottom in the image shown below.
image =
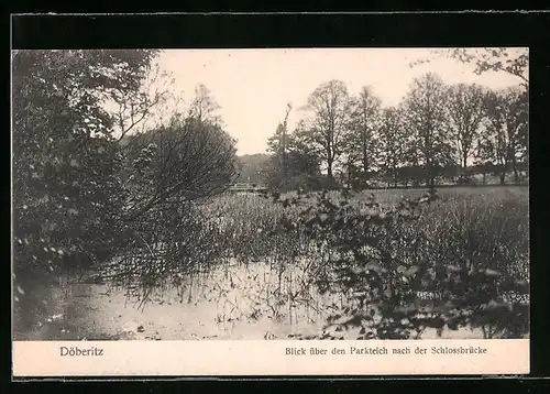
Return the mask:
<svg viewBox="0 0 550 394"><path fill-rule="evenodd" d="M529 373L528 48L11 62L15 377Z"/></svg>

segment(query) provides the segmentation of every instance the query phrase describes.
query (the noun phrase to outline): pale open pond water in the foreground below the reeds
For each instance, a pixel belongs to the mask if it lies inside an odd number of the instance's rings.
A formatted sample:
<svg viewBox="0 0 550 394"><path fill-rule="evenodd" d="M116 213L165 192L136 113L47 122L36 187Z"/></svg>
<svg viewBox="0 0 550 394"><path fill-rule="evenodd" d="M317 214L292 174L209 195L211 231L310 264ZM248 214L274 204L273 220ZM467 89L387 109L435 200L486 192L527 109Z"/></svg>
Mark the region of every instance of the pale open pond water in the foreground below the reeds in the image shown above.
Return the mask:
<svg viewBox="0 0 550 394"><path fill-rule="evenodd" d="M31 328L15 329L26 340L206 340L288 339L318 335L334 309L345 306L341 296L320 295L314 286L289 303L307 282L307 271L293 267L279 277L270 264L220 267L188 281L182 288L157 289L143 308L124 289L106 284L64 283L34 288L45 308ZM349 332L355 339L356 331ZM435 339L427 329L422 339ZM480 330L444 330L442 338L483 338Z"/></svg>

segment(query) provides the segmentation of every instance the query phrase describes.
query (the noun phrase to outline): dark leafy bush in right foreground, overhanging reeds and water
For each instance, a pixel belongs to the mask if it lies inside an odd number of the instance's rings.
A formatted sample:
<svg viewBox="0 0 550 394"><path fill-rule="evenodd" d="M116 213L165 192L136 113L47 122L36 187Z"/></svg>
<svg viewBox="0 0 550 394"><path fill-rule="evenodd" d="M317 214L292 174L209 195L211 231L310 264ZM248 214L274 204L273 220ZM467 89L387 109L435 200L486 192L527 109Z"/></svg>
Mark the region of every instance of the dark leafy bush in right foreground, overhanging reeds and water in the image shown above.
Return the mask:
<svg viewBox="0 0 550 394"><path fill-rule="evenodd" d="M484 238L503 223L496 214L477 227L459 219L440 232L446 216L437 207L432 215L439 215L440 227L422 230L432 223L428 210L435 200L432 191L383 207L374 196L358 205L345 193L337 199L323 193L299 215L284 218L290 222L286 231L333 251L315 284L351 295L351 304L329 319L332 333L321 338L358 329L358 339L405 339L430 327L439 333L481 327L487 338L528 332L528 303L506 296L528 294L526 276L514 269L525 258L521 232L510 223ZM502 243L513 240L508 249Z"/></svg>

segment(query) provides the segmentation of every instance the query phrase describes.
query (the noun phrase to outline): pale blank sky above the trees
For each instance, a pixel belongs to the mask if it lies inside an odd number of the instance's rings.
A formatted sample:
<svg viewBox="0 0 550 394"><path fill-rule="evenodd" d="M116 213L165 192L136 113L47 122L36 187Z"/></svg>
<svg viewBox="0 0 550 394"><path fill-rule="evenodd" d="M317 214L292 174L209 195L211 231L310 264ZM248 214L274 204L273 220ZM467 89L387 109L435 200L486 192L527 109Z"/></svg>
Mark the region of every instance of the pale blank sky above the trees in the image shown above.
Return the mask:
<svg viewBox="0 0 550 394"><path fill-rule="evenodd" d="M305 50L169 50L158 57L162 69L175 78L175 89L188 102L197 84L205 84L220 105L226 130L238 140L239 154L264 153L266 140L284 119L286 103L306 103L317 86L340 79L355 95L370 86L384 106L400 101L415 77L439 74L448 84L476 83L492 88L517 85L506 73L477 76L473 67L439 58L409 67L429 55L420 48L305 48ZM293 110L292 130L304 117Z"/></svg>

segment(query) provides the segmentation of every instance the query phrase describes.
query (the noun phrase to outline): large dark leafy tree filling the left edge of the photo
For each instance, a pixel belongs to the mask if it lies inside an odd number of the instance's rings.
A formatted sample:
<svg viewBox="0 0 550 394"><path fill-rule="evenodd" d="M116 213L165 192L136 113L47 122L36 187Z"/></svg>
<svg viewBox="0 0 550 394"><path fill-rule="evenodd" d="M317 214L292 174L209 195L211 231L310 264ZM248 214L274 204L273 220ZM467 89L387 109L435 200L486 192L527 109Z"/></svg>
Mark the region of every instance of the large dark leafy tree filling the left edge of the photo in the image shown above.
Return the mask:
<svg viewBox="0 0 550 394"><path fill-rule="evenodd" d="M106 261L119 243L125 195L103 102L116 90L138 91L155 55L12 53L13 259L16 299L31 319L33 281Z"/></svg>

